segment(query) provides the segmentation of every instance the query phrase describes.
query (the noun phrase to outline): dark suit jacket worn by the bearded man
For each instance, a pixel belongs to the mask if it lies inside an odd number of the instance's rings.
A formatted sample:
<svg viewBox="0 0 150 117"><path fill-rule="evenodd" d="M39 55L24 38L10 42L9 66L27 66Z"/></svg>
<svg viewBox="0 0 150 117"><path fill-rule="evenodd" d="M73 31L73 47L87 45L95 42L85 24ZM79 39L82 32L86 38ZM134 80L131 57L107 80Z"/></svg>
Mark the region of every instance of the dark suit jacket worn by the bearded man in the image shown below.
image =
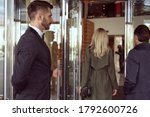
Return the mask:
<svg viewBox="0 0 150 117"><path fill-rule="evenodd" d="M50 99L50 68L48 47L39 34L28 27L15 48L12 76L14 99Z"/></svg>

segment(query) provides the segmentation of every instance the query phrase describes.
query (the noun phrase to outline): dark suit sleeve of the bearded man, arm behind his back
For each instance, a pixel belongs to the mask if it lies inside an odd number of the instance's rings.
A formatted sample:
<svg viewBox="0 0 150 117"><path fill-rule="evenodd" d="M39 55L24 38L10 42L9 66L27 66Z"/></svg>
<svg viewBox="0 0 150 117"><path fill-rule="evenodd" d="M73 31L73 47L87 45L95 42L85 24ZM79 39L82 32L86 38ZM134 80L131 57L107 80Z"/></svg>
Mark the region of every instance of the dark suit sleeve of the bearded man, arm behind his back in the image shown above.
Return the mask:
<svg viewBox="0 0 150 117"><path fill-rule="evenodd" d="M32 39L22 39L16 47L14 73L12 85L16 92L20 92L28 83L30 70L37 54Z"/></svg>

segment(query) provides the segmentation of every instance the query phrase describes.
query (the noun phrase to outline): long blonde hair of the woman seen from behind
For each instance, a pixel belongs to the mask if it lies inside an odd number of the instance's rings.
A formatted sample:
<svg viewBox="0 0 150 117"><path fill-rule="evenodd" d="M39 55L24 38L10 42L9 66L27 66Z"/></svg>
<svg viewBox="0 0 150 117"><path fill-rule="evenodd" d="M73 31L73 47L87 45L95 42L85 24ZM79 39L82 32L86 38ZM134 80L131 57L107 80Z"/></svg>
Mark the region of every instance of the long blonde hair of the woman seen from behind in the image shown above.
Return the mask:
<svg viewBox="0 0 150 117"><path fill-rule="evenodd" d="M108 51L108 35L103 28L98 28L93 36L90 46L94 50L94 56L101 58Z"/></svg>

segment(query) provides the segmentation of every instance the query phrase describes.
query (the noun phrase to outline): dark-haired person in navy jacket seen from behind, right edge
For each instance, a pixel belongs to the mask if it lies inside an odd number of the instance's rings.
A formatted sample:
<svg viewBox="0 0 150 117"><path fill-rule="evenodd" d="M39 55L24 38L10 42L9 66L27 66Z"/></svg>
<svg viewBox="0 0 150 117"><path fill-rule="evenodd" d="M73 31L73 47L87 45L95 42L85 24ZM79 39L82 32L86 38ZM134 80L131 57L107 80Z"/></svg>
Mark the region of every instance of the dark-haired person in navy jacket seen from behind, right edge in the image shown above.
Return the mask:
<svg viewBox="0 0 150 117"><path fill-rule="evenodd" d="M134 31L135 47L127 56L124 91L127 100L150 99L150 30L139 25Z"/></svg>

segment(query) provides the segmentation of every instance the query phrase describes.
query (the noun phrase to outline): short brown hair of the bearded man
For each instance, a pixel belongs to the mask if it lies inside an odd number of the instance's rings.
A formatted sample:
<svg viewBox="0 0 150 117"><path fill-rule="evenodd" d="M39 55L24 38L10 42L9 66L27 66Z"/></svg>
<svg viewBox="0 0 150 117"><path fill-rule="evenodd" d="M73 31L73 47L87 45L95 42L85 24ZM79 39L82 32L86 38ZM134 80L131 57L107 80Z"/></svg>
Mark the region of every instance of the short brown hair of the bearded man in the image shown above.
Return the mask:
<svg viewBox="0 0 150 117"><path fill-rule="evenodd" d="M53 5L51 5L47 1L35 0L35 1L31 2L29 4L29 6L27 7L28 16L29 16L30 20L33 20L35 18L35 15L38 10L47 11L48 8L52 9Z"/></svg>

